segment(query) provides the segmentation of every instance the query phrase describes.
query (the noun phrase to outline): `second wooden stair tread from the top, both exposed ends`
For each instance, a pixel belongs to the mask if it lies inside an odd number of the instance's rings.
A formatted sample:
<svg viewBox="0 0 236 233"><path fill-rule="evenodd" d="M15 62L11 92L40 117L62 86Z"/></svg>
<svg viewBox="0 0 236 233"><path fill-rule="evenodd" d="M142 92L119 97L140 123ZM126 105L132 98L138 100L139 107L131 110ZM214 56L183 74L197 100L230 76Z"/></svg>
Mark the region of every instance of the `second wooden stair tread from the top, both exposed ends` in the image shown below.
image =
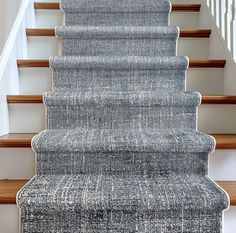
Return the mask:
<svg viewBox="0 0 236 233"><path fill-rule="evenodd" d="M210 29L181 29L180 37L185 38L209 38L211 34ZM27 36L55 36L55 29L53 28L27 28Z"/></svg>

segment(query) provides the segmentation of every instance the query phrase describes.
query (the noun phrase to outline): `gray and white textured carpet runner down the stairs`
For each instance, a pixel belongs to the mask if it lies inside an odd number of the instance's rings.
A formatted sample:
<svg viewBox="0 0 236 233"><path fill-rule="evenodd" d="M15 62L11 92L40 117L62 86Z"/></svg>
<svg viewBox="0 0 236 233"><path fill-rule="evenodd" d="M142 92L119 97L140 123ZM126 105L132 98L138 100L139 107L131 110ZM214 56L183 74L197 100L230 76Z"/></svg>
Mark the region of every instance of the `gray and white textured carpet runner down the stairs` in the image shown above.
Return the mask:
<svg viewBox="0 0 236 233"><path fill-rule="evenodd" d="M228 197L208 176L214 139L164 0L63 0L22 233L220 233Z"/></svg>

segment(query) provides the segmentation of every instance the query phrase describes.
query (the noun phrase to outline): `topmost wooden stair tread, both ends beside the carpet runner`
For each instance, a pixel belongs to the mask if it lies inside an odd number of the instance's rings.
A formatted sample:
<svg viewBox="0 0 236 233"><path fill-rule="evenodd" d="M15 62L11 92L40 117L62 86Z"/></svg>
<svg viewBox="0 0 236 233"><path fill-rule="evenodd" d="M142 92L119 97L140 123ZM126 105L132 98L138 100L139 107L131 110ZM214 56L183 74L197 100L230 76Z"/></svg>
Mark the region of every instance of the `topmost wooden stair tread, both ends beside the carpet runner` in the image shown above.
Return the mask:
<svg viewBox="0 0 236 233"><path fill-rule="evenodd" d="M60 4L57 2L35 2L34 8L37 10L59 10ZM199 12L200 4L173 4L172 11L177 12Z"/></svg>

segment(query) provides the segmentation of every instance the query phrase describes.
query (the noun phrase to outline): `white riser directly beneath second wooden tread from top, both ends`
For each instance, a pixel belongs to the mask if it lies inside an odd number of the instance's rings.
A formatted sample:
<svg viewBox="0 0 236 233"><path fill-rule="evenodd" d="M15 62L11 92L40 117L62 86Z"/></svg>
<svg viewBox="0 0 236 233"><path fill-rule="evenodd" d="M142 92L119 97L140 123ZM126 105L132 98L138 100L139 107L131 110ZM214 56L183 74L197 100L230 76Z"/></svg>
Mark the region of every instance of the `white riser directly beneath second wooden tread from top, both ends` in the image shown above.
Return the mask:
<svg viewBox="0 0 236 233"><path fill-rule="evenodd" d="M60 41L55 37L28 37L28 58L48 59L50 56L61 54ZM208 38L180 38L177 54L188 56L190 59L208 59Z"/></svg>

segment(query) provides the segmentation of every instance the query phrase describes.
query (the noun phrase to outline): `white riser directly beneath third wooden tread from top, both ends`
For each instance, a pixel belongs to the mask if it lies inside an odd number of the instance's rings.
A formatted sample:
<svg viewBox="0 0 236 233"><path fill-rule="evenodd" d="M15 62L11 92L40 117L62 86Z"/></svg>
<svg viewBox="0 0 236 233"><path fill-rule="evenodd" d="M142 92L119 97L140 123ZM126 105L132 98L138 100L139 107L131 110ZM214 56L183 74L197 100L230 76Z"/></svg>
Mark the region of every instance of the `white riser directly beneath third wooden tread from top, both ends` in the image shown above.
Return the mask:
<svg viewBox="0 0 236 233"><path fill-rule="evenodd" d="M21 68L20 94L37 95L51 90L52 71L49 68ZM187 90L202 95L223 94L224 69L189 69Z"/></svg>

